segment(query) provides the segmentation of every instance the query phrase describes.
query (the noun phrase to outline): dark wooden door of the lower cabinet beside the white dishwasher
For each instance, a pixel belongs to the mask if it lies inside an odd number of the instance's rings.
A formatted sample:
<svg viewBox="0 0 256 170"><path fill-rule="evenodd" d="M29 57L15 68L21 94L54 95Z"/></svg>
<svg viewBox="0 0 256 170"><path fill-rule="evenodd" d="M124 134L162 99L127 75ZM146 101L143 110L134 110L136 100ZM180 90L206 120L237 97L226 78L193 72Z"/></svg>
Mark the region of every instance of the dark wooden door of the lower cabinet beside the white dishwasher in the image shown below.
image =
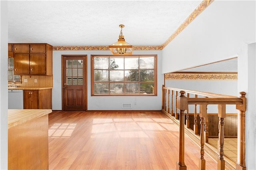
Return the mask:
<svg viewBox="0 0 256 170"><path fill-rule="evenodd" d="M38 109L38 90L23 90L24 109Z"/></svg>

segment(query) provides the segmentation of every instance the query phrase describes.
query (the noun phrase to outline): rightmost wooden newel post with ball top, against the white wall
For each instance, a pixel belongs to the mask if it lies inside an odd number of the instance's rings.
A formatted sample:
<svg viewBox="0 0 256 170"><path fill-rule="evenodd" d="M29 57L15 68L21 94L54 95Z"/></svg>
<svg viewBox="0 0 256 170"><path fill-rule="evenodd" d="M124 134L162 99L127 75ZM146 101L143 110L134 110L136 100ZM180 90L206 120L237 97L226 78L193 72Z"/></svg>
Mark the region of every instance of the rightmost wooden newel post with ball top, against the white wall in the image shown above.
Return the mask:
<svg viewBox="0 0 256 170"><path fill-rule="evenodd" d="M239 110L238 115L238 127L237 127L237 170L246 170L245 164L245 112L246 112L246 93L240 92L240 98L243 101L242 105L236 105L236 109Z"/></svg>

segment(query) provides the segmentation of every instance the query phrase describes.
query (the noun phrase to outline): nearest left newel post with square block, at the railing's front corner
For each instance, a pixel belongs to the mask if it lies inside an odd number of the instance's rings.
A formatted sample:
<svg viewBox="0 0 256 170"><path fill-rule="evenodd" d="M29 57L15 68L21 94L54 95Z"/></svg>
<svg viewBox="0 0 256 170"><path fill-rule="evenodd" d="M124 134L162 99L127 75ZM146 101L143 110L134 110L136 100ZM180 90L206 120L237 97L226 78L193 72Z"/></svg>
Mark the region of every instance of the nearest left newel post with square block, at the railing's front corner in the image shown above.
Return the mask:
<svg viewBox="0 0 256 170"><path fill-rule="evenodd" d="M177 170L186 170L187 166L184 162L184 111L188 109L188 98L184 95L185 91L180 91L180 96L177 100L177 108L180 109L180 138L179 138L179 160L177 162Z"/></svg>

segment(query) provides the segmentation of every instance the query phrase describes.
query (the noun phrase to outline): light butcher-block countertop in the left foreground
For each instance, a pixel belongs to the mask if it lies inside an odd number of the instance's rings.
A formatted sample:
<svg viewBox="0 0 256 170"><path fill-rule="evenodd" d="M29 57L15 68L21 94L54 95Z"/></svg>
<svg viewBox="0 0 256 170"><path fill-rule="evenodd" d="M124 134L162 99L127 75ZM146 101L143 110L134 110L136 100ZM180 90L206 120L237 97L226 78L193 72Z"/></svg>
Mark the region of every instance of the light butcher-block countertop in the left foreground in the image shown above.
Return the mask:
<svg viewBox="0 0 256 170"><path fill-rule="evenodd" d="M52 113L51 109L8 109L8 128Z"/></svg>

